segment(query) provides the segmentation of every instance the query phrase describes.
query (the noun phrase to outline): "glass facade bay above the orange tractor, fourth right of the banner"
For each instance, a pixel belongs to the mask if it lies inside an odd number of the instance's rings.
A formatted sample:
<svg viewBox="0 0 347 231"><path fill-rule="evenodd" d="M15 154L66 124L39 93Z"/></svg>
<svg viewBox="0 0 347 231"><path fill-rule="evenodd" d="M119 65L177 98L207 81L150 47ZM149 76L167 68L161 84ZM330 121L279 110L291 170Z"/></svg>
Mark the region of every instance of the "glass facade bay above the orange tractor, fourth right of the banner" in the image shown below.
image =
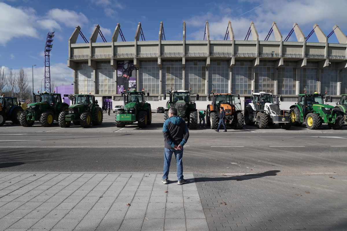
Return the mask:
<svg viewBox="0 0 347 231"><path fill-rule="evenodd" d="M208 93L229 93L229 61L211 60Z"/></svg>

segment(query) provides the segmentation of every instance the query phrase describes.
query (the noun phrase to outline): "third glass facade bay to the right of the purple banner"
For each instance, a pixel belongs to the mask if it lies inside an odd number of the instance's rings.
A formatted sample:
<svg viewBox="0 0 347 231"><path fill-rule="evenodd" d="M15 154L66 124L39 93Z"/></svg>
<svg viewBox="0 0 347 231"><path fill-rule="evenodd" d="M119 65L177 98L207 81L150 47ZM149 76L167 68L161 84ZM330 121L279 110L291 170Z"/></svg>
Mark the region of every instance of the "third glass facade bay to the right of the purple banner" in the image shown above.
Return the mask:
<svg viewBox="0 0 347 231"><path fill-rule="evenodd" d="M192 88L192 93L206 94L206 61L186 60L186 89Z"/></svg>

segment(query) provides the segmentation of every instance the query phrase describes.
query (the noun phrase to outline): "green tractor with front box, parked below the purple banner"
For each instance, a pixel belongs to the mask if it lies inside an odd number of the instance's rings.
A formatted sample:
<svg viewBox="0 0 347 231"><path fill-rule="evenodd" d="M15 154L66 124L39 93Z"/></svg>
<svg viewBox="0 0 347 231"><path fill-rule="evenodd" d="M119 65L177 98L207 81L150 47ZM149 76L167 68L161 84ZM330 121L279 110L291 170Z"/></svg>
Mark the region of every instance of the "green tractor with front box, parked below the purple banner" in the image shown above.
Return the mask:
<svg viewBox="0 0 347 231"><path fill-rule="evenodd" d="M122 92L124 97L124 108L116 111L116 126L125 127L127 124L133 124L137 121L138 127L146 127L152 123L151 104L145 101L145 92L127 91ZM149 93L147 92L147 96Z"/></svg>

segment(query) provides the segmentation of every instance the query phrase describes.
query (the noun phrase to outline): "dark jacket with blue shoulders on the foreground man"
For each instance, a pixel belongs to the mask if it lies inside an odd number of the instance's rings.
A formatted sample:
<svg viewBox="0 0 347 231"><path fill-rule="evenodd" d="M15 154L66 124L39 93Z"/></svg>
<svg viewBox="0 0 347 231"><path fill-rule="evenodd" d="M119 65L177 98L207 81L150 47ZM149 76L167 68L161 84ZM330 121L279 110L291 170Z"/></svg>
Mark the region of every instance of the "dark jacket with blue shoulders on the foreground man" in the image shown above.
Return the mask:
<svg viewBox="0 0 347 231"><path fill-rule="evenodd" d="M165 148L172 149L176 145L184 145L189 138L186 122L179 116L171 116L163 125Z"/></svg>

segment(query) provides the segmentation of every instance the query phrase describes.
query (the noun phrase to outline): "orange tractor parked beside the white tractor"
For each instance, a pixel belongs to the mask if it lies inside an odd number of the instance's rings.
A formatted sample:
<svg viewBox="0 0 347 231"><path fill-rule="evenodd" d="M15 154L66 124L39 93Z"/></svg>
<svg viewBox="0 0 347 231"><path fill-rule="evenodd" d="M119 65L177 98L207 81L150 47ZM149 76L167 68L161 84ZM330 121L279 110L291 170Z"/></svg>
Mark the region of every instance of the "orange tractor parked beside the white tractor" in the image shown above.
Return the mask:
<svg viewBox="0 0 347 231"><path fill-rule="evenodd" d="M235 126L235 129L242 129L244 117L241 110L240 95L214 94L212 92L212 104L207 105L206 122L215 130L219 123L220 107L225 110L225 125Z"/></svg>

